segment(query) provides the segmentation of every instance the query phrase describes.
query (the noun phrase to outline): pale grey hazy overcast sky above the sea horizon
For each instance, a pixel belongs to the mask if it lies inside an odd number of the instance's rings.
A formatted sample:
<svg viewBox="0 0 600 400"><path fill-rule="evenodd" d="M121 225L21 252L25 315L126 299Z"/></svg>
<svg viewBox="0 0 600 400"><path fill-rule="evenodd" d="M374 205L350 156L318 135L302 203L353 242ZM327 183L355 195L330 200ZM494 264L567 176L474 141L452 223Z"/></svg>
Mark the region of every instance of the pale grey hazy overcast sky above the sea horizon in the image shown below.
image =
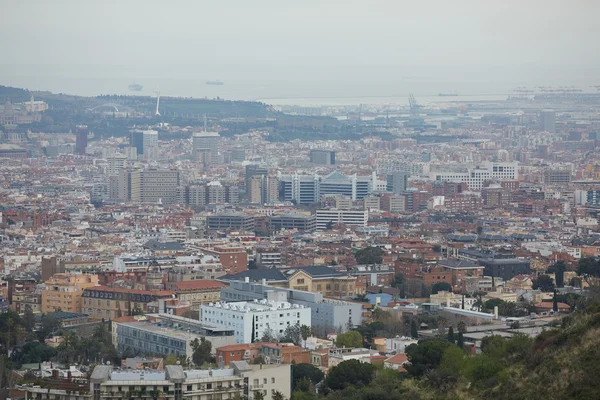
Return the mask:
<svg viewBox="0 0 600 400"><path fill-rule="evenodd" d="M2 0L0 72L58 73L39 67L51 64L377 80L451 71L600 84L599 16L598 0Z"/></svg>

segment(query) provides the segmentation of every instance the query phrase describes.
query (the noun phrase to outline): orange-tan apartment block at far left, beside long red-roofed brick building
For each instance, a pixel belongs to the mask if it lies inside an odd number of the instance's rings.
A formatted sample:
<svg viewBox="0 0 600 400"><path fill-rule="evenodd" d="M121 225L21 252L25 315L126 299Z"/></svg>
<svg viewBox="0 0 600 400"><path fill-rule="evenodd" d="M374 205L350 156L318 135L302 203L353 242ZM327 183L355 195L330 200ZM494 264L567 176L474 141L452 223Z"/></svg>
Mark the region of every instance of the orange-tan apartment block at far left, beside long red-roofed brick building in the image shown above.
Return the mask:
<svg viewBox="0 0 600 400"><path fill-rule="evenodd" d="M83 290L98 285L98 276L91 274L55 274L42 291L42 313L65 311L81 313Z"/></svg>

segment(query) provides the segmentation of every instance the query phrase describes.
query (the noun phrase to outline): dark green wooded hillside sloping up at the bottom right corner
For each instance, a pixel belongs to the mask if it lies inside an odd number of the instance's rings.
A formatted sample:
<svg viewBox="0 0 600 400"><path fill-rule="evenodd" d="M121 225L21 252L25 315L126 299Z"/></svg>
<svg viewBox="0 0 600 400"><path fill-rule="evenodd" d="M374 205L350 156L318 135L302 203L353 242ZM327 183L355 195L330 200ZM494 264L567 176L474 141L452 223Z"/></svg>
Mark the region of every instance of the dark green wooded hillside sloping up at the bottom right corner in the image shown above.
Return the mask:
<svg viewBox="0 0 600 400"><path fill-rule="evenodd" d="M567 316L535 339L525 335L483 339L470 355L450 333L411 345L406 373L365 369L356 381L348 362L334 367L321 394L296 390L301 400L598 399L600 301ZM358 368L358 366L353 366ZM365 378L365 376L367 378Z"/></svg>

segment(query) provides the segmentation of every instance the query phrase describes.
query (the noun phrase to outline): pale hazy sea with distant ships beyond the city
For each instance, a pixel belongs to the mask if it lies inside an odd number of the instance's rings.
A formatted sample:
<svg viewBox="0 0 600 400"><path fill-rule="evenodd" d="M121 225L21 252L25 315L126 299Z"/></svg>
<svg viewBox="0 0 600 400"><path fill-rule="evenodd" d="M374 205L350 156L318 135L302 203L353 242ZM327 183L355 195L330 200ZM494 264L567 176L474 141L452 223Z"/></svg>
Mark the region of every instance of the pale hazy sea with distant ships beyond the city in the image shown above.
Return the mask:
<svg viewBox="0 0 600 400"><path fill-rule="evenodd" d="M193 66L98 66L98 65L10 65L0 64L0 85L47 90L80 96L101 94L194 97L261 101L275 106L353 106L360 104L404 105L409 94L419 104L500 101L514 89L526 86L529 75L477 75L469 70L348 68L202 68ZM595 75L595 73L594 73ZM531 78L533 79L533 78ZM223 85L207 85L207 81ZM539 85L549 79L537 80ZM554 86L569 85L590 89L589 74L550 80ZM138 83L141 91L129 90ZM530 87L534 85L530 82ZM458 93L442 97L438 93Z"/></svg>

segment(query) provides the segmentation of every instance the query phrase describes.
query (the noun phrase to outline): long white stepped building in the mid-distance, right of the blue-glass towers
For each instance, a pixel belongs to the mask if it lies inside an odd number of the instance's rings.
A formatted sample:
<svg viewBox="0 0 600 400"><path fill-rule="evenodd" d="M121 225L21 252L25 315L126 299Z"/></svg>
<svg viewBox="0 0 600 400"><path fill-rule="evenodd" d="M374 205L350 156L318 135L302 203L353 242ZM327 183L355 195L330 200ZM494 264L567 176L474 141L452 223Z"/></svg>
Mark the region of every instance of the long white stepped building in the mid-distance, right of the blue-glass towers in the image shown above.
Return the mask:
<svg viewBox="0 0 600 400"><path fill-rule="evenodd" d="M479 190L485 181L517 180L519 177L518 167L517 162L487 162L475 168L469 168L466 172L431 172L429 179L442 182L464 182L469 189Z"/></svg>

